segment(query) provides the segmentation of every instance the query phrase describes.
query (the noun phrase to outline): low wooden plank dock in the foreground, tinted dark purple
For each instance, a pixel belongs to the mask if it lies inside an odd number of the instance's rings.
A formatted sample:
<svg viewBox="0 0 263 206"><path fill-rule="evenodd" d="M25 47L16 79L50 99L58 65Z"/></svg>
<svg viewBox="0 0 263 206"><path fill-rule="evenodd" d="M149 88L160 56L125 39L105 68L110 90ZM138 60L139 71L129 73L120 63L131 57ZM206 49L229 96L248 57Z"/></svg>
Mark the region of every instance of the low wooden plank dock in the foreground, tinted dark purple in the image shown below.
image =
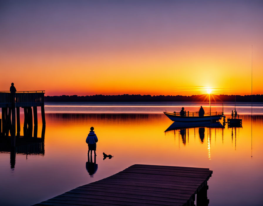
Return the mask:
<svg viewBox="0 0 263 206"><path fill-rule="evenodd" d="M36 205L208 205L206 168L134 164Z"/></svg>

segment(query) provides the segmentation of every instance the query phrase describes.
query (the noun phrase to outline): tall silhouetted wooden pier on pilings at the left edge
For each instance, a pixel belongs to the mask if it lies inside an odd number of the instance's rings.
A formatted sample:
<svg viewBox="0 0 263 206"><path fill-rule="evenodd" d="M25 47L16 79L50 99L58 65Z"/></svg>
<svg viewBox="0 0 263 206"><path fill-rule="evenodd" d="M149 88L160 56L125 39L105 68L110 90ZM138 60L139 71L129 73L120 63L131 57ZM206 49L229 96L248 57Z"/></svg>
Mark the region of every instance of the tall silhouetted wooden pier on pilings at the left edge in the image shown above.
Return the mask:
<svg viewBox="0 0 263 206"><path fill-rule="evenodd" d="M41 107L42 124L45 125L44 94L44 90L17 91L16 93L0 91L0 108L2 108L0 136L8 137L10 131L13 147L15 147L16 136L20 137L20 107L23 108L25 116L24 136L30 136L30 131L33 130L33 119L34 126L38 125L37 107Z"/></svg>

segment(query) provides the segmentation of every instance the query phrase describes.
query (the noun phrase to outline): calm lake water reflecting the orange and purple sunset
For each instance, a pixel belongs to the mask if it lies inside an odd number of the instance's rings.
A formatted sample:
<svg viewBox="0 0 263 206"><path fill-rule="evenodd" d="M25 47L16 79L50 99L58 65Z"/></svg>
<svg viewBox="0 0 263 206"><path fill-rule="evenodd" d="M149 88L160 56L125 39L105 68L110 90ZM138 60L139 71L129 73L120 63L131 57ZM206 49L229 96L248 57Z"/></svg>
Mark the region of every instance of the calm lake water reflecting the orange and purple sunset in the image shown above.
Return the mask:
<svg viewBox="0 0 263 206"><path fill-rule="evenodd" d="M16 153L0 143L0 205L32 205L133 164L210 168L209 205L262 205L263 104L253 105L252 119L251 104L236 105L242 128L164 132L173 122L162 111L198 111L200 105L209 111L207 103L46 104L44 143L17 147ZM233 109L224 104L227 117ZM222 111L222 104L211 110ZM41 137L41 113L38 122ZM91 126L99 140L97 171L86 164ZM103 160L102 152L114 157Z"/></svg>

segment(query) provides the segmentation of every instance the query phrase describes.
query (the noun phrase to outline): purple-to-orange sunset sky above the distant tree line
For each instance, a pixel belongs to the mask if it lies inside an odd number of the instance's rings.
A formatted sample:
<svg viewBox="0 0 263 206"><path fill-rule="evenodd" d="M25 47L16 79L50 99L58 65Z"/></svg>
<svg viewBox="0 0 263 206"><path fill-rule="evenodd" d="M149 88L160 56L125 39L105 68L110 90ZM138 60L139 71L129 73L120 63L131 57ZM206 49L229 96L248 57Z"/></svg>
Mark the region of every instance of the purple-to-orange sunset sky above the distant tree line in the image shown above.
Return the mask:
<svg viewBox="0 0 263 206"><path fill-rule="evenodd" d="M253 94L263 94L262 4L204 5L7 4L0 90L14 82L46 95L246 95L253 44Z"/></svg>

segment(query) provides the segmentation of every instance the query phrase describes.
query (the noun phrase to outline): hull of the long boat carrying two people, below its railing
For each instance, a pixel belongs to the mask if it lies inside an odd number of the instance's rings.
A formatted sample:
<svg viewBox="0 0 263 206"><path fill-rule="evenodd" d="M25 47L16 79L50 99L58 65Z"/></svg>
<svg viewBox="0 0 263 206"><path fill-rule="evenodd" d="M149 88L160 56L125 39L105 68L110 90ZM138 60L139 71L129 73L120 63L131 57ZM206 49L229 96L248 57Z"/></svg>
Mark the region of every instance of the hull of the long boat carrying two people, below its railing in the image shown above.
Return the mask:
<svg viewBox="0 0 263 206"><path fill-rule="evenodd" d="M163 112L169 119L176 122L196 122L196 121L218 121L222 118L222 115L211 115L211 116L177 116L171 113Z"/></svg>

